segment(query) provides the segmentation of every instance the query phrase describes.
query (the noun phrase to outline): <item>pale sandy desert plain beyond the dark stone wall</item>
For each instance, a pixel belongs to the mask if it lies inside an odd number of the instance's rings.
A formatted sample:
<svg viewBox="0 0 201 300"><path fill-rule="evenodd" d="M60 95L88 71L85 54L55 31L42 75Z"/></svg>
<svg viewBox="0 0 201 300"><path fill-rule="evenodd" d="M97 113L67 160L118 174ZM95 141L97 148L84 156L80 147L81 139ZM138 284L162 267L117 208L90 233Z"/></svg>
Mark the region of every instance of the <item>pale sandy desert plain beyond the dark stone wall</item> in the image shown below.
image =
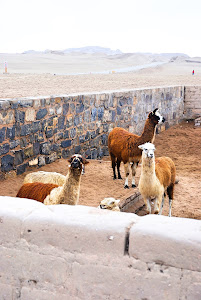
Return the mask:
<svg viewBox="0 0 201 300"><path fill-rule="evenodd" d="M8 61L8 74L4 60ZM201 85L201 59L191 62L178 59L173 62L158 58L163 65L138 71L112 73L119 68L146 66L156 58L143 55L82 56L10 55L0 54L0 99L34 96L66 95L156 86ZM195 75L192 76L192 70ZM108 71L108 74L93 72ZM83 75L65 75L82 73ZM55 74L55 75L54 75Z"/></svg>

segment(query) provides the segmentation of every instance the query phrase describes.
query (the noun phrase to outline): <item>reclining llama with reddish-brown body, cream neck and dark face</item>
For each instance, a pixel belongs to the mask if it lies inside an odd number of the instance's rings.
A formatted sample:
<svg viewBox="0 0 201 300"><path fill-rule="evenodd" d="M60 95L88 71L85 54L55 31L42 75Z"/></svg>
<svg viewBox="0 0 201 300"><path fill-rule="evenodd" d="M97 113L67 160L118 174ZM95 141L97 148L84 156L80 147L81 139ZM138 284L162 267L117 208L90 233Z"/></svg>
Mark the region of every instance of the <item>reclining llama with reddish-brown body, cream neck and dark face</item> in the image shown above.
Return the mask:
<svg viewBox="0 0 201 300"><path fill-rule="evenodd" d="M46 205L70 204L77 205L80 193L82 165L89 163L81 155L73 155L63 186L41 182L25 183L16 197L34 199Z"/></svg>

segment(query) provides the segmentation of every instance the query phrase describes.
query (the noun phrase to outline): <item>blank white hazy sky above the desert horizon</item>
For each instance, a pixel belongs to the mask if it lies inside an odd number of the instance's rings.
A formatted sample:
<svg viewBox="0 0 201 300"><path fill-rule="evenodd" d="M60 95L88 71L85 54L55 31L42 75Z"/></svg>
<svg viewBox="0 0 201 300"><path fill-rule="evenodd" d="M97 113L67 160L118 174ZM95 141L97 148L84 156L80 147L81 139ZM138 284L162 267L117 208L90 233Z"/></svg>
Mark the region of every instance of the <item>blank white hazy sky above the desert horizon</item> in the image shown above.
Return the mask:
<svg viewBox="0 0 201 300"><path fill-rule="evenodd" d="M102 46L201 56L201 0L0 0L0 52Z"/></svg>

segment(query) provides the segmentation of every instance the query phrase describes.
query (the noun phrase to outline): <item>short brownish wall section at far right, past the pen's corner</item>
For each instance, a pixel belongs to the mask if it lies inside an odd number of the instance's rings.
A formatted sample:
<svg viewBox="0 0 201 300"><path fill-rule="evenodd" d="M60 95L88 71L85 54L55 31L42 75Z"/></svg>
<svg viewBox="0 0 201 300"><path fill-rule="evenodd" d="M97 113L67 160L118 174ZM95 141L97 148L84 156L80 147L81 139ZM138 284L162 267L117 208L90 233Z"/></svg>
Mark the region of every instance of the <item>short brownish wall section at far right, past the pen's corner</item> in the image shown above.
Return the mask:
<svg viewBox="0 0 201 300"><path fill-rule="evenodd" d="M187 119L201 116L201 86L185 87L184 107Z"/></svg>

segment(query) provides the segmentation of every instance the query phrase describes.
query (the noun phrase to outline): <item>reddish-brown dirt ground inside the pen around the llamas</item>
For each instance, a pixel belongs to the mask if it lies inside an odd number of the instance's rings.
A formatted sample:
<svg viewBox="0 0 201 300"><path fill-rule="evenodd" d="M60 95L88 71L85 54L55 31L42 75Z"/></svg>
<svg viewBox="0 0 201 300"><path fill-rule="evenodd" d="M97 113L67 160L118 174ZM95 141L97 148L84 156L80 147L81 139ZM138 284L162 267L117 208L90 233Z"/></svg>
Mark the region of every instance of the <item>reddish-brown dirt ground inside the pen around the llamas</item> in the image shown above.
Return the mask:
<svg viewBox="0 0 201 300"><path fill-rule="evenodd" d="M156 156L169 156L177 169L179 183L175 186L175 199L172 216L201 219L201 128L195 128L193 122L183 122L158 134L155 140ZM136 183L140 176L140 165L137 169ZM40 170L66 174L67 161L64 159L46 165ZM38 171L34 168L31 171ZM28 173L28 172L27 172ZM10 177L0 182L1 196L16 196L27 173L15 178ZM124 176L123 163L121 164ZM98 206L105 197L115 197L124 201L137 188L124 189L123 180L113 180L113 172L109 157L103 160L90 160L86 173L81 179L79 204ZM129 178L131 186L131 176ZM168 215L166 199L163 215Z"/></svg>

